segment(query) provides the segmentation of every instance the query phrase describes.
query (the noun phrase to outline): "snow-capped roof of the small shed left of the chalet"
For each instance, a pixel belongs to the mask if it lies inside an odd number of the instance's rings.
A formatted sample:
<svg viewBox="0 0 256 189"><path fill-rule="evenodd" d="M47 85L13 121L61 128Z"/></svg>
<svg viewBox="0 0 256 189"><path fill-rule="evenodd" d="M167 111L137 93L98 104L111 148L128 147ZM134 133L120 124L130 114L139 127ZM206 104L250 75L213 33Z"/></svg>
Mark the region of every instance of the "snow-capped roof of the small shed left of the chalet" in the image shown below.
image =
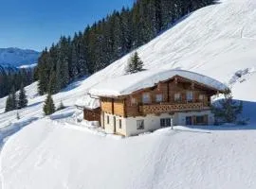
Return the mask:
<svg viewBox="0 0 256 189"><path fill-rule="evenodd" d="M77 99L76 106L94 110L100 107L100 99L93 98L89 94L85 94L81 98Z"/></svg>

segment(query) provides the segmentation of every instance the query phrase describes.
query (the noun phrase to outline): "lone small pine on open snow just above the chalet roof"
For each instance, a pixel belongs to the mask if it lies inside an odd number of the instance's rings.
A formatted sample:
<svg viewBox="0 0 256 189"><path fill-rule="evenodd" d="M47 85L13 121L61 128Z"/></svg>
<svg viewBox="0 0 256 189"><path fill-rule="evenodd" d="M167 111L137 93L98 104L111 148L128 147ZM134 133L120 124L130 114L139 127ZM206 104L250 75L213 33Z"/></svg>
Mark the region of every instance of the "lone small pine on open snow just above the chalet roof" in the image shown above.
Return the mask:
<svg viewBox="0 0 256 189"><path fill-rule="evenodd" d="M134 74L137 72L141 72L143 70L143 61L140 60L138 57L138 53L135 52L135 54L130 58L127 68L126 68L126 73L127 74Z"/></svg>

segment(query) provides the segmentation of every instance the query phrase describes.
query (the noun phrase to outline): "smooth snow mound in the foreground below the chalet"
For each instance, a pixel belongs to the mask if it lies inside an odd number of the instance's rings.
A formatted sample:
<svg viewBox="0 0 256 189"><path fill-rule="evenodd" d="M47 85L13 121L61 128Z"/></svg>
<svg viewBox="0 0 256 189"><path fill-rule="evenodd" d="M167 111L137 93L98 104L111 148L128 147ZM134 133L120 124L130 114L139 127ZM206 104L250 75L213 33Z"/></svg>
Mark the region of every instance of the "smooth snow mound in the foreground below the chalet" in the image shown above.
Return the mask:
<svg viewBox="0 0 256 189"><path fill-rule="evenodd" d="M256 187L256 128L178 127L126 139L41 119L1 155L3 188Z"/></svg>

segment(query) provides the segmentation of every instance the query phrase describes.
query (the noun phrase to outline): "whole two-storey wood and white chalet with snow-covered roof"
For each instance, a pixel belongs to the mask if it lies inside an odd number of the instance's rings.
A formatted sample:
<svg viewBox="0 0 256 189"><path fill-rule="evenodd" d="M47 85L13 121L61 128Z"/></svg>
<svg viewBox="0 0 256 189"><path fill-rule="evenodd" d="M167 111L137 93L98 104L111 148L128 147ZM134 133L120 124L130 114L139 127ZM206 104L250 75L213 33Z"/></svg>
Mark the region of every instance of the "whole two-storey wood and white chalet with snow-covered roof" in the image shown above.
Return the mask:
<svg viewBox="0 0 256 189"><path fill-rule="evenodd" d="M101 127L123 136L171 125L211 125L210 98L226 89L213 78L183 70L114 77L89 91L99 107L84 108L84 118L92 120L100 113L95 118Z"/></svg>

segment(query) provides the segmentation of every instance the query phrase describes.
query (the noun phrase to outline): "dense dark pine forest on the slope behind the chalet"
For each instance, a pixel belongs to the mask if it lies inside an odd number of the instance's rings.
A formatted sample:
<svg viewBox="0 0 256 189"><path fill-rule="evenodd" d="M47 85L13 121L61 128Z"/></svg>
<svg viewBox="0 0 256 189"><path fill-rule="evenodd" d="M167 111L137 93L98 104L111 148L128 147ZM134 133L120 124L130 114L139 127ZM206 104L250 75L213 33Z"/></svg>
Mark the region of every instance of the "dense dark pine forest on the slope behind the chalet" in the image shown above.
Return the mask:
<svg viewBox="0 0 256 189"><path fill-rule="evenodd" d="M58 93L77 77L105 68L131 50L148 43L159 32L173 26L195 9L211 5L215 0L137 0L131 9L115 10L74 38L62 36L56 45L45 49L38 60L34 77L38 79L39 94L46 94L49 78L53 93ZM135 70L132 70L133 73ZM22 71L23 72L23 71ZM54 77L56 75L56 77ZM0 95L9 94L9 86L19 89L23 74L9 77L1 83ZM23 80L27 85L27 79ZM2 90L3 89L3 90Z"/></svg>

